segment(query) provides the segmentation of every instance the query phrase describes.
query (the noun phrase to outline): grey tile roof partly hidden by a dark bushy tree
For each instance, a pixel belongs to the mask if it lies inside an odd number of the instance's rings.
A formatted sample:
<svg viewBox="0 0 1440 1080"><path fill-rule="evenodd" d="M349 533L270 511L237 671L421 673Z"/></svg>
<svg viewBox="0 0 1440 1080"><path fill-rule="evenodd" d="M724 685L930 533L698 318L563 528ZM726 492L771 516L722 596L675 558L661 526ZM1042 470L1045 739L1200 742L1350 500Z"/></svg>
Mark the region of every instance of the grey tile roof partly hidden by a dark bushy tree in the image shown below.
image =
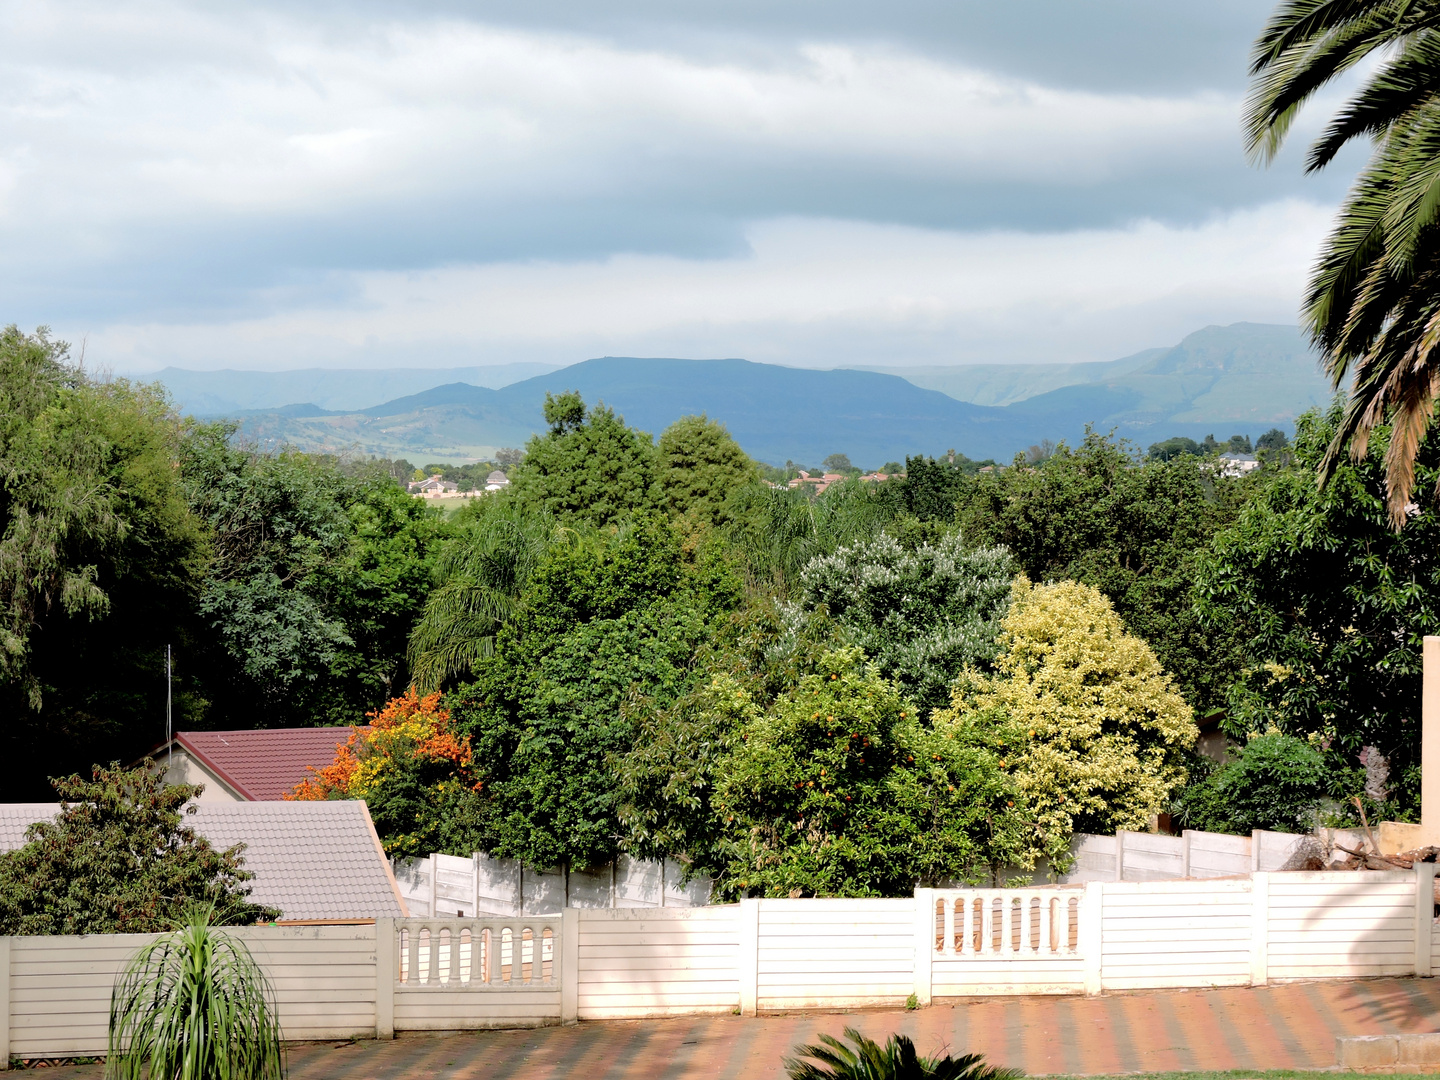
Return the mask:
<svg viewBox="0 0 1440 1080"><path fill-rule="evenodd" d="M251 899L282 919L400 917L390 864L360 801L200 802L187 822L217 848L245 844ZM0 804L0 850L59 812L55 802Z"/></svg>

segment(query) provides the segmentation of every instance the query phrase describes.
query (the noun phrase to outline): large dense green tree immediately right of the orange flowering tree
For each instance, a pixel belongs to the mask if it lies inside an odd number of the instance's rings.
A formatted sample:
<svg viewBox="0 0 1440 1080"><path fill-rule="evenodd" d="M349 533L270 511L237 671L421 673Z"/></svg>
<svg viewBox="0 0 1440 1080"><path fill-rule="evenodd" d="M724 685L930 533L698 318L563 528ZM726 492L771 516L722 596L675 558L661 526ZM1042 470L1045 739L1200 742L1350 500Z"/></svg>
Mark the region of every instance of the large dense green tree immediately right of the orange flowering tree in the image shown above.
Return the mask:
<svg viewBox="0 0 1440 1080"><path fill-rule="evenodd" d="M739 599L723 560L687 556L654 513L550 547L494 654L454 694L482 778L485 848L540 867L611 858L622 835L613 759L638 714L698 678L696 652Z"/></svg>

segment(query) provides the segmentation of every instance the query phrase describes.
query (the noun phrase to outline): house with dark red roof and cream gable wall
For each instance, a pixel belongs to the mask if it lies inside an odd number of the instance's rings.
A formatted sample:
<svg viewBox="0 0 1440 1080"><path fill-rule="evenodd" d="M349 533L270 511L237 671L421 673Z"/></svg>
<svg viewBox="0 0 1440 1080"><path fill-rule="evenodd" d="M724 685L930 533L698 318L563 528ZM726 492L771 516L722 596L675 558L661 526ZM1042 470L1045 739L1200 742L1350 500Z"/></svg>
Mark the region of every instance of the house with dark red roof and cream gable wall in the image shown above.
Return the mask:
<svg viewBox="0 0 1440 1080"><path fill-rule="evenodd" d="M177 732L150 756L168 783L203 783L200 802L272 802L336 759L351 727Z"/></svg>

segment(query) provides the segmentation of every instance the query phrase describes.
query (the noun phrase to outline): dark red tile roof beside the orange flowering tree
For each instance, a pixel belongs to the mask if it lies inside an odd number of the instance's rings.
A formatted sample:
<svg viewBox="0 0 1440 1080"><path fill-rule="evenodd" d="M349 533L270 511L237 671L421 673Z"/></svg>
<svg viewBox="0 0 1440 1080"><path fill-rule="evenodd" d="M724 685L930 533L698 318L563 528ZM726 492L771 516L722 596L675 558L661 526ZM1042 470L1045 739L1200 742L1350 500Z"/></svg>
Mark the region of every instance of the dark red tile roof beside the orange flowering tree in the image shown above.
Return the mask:
<svg viewBox="0 0 1440 1080"><path fill-rule="evenodd" d="M253 802L282 799L336 759L353 727L272 727L265 732L176 732L197 762Z"/></svg>

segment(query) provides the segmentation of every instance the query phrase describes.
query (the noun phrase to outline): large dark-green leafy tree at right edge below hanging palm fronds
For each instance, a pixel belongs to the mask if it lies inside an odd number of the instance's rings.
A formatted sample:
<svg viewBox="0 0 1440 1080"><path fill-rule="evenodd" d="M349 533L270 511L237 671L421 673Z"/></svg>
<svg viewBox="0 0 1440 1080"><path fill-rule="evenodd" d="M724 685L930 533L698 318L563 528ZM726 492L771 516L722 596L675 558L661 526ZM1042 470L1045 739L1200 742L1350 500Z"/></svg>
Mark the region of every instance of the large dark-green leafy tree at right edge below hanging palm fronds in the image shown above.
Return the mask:
<svg viewBox="0 0 1440 1080"><path fill-rule="evenodd" d="M1296 425L1296 467L1273 475L1197 566L1207 628L1243 642L1228 667L1225 726L1272 726L1328 747L1333 793L1365 785L1359 756L1388 762L1387 812L1413 809L1420 783L1420 648L1440 632L1440 513L1416 507L1388 526L1384 467L1344 462L1323 490L1315 468L1344 425L1339 406ZM1374 432L1384 448L1390 431ZM1440 480L1426 444L1417 475Z"/></svg>

